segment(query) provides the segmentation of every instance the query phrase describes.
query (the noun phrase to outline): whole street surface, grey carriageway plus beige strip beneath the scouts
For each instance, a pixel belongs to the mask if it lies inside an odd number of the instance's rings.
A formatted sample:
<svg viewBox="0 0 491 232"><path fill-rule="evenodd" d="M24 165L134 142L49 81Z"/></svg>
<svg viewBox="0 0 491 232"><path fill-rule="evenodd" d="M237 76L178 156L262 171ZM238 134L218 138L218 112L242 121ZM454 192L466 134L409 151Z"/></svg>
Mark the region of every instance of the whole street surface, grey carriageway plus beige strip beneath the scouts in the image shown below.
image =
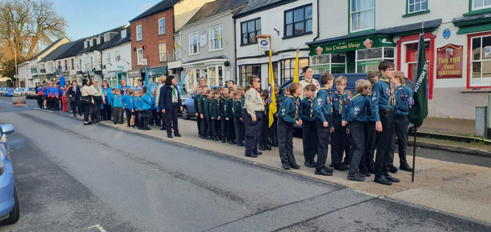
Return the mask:
<svg viewBox="0 0 491 232"><path fill-rule="evenodd" d="M195 121L179 120L183 137L168 139L28 103L0 103L0 123L16 128L22 203L21 220L0 231L491 231L487 157L417 149L416 181L399 171L401 183L383 186L284 171L276 148L246 158L198 138ZM300 149L294 138L303 164Z"/></svg>

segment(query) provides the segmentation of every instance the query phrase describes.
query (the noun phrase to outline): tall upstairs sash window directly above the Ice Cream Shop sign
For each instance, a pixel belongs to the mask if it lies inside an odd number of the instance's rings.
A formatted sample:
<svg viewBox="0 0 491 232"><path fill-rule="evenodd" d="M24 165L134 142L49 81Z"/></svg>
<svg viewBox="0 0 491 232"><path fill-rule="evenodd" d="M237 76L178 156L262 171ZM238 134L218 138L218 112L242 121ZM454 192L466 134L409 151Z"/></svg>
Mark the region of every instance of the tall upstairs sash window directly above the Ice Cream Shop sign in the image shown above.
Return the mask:
<svg viewBox="0 0 491 232"><path fill-rule="evenodd" d="M375 28L375 0L350 0L351 32Z"/></svg>

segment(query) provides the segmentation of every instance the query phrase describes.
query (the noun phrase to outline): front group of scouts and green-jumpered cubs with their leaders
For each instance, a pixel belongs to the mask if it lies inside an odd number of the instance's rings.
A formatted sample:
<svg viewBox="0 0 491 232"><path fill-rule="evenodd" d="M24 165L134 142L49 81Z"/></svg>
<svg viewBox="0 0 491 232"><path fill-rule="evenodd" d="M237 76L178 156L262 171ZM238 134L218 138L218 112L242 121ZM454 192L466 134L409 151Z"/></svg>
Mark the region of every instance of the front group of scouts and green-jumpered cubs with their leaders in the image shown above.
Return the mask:
<svg viewBox="0 0 491 232"><path fill-rule="evenodd" d="M389 175L389 171L399 170L393 165L396 134L399 168L412 171L406 161L406 150L408 112L413 99L404 74L394 70L394 63L380 62L379 71L381 77L369 73L367 80L356 81L356 92L351 93L344 90L346 77L334 80L331 74L325 73L319 84L312 78L312 69L305 67L304 78L285 88L284 96L278 94L279 86L275 86L278 110L270 128L269 92L260 90L258 77L249 80L250 88L238 87L230 81L230 87L215 90L200 80L196 88L198 96L194 98L199 137L246 146L247 157L257 157L262 155L258 150L278 146L282 167L300 168L293 154L293 131L295 124L301 125L304 165L315 168L316 175L333 173L326 166L330 139L330 166L339 171L348 170L348 180L364 181L375 174L375 182L391 185L400 181ZM334 83L336 91L329 91Z"/></svg>

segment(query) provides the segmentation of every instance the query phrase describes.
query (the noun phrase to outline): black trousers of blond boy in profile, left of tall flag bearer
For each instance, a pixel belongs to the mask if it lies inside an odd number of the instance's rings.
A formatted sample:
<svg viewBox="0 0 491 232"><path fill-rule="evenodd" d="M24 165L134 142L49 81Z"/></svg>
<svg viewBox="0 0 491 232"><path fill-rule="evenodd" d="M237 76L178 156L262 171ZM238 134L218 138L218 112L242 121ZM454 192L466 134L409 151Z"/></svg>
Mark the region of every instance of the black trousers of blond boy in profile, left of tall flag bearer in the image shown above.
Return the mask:
<svg viewBox="0 0 491 232"><path fill-rule="evenodd" d="M353 155L351 157L349 175L356 175L358 173L358 167L362 159L364 159L365 151L365 127L363 122L354 121L348 125L351 133L351 150Z"/></svg>

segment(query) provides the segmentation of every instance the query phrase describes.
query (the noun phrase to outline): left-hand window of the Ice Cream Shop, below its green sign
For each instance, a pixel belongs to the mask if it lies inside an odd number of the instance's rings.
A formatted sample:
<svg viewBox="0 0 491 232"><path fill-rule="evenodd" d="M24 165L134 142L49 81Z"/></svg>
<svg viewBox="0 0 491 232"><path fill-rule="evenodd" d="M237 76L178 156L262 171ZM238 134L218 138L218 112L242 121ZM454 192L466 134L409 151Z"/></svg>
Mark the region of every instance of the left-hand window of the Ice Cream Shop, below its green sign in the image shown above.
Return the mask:
<svg viewBox="0 0 491 232"><path fill-rule="evenodd" d="M330 53L311 57L310 67L314 74L346 73L346 53Z"/></svg>

